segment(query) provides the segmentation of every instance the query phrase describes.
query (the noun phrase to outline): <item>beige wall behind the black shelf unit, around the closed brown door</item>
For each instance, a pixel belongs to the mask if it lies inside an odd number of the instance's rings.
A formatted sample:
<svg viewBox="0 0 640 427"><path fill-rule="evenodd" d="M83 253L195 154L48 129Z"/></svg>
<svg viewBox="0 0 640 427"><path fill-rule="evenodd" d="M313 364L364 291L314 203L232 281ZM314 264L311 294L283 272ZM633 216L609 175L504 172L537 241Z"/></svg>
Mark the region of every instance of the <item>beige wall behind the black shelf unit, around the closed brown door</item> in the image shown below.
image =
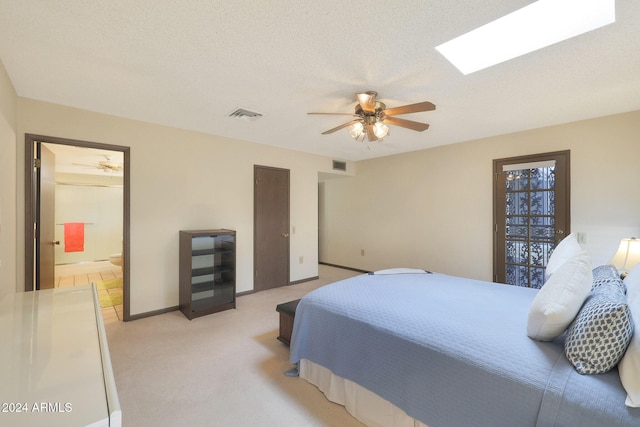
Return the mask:
<svg viewBox="0 0 640 427"><path fill-rule="evenodd" d="M331 159L32 99L19 98L18 110L18 177L24 133L131 147L131 315L178 304L181 229L235 229L237 290L253 289L254 164L290 169L291 280L318 274L318 173L331 172ZM23 239L19 246L22 266Z"/></svg>

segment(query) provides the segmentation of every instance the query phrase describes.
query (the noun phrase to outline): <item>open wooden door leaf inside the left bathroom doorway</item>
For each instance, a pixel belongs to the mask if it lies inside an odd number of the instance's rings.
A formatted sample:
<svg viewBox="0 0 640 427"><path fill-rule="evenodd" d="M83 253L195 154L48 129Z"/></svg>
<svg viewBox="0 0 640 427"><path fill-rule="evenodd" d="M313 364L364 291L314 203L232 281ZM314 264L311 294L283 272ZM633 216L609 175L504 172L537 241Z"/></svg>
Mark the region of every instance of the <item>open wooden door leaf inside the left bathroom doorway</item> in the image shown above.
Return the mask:
<svg viewBox="0 0 640 427"><path fill-rule="evenodd" d="M39 159L38 184L40 200L36 212L36 289L51 289L55 279L55 164L53 152L42 143L37 143Z"/></svg>

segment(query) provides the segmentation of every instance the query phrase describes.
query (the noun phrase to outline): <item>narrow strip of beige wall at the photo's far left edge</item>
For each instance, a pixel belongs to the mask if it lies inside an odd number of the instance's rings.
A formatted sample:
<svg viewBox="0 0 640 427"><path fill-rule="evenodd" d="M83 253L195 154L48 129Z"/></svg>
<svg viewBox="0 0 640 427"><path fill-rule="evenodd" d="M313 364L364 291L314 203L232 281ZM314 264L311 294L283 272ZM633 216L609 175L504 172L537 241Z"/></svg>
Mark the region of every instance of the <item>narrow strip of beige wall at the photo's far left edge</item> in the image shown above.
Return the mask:
<svg viewBox="0 0 640 427"><path fill-rule="evenodd" d="M17 100L0 61L0 299L16 290Z"/></svg>

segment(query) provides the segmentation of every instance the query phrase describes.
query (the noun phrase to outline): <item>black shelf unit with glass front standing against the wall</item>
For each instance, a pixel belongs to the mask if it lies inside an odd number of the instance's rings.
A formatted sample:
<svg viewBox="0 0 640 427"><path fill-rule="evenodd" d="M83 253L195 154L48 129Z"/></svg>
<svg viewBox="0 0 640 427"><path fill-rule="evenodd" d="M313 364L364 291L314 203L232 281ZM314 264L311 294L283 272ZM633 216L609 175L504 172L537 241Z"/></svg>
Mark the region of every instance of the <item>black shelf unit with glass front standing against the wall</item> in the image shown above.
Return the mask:
<svg viewBox="0 0 640 427"><path fill-rule="evenodd" d="M180 231L180 311L188 318L236 307L236 233Z"/></svg>

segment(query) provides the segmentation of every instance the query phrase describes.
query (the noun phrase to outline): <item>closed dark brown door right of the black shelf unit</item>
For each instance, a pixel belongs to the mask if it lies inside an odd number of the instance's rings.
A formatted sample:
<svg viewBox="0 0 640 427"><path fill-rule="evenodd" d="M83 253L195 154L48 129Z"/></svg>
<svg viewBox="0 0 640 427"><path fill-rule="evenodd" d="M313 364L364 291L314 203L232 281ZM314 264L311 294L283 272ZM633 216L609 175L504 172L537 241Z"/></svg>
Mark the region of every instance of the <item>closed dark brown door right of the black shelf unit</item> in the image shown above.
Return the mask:
<svg viewBox="0 0 640 427"><path fill-rule="evenodd" d="M254 289L289 284L289 170L254 166Z"/></svg>

